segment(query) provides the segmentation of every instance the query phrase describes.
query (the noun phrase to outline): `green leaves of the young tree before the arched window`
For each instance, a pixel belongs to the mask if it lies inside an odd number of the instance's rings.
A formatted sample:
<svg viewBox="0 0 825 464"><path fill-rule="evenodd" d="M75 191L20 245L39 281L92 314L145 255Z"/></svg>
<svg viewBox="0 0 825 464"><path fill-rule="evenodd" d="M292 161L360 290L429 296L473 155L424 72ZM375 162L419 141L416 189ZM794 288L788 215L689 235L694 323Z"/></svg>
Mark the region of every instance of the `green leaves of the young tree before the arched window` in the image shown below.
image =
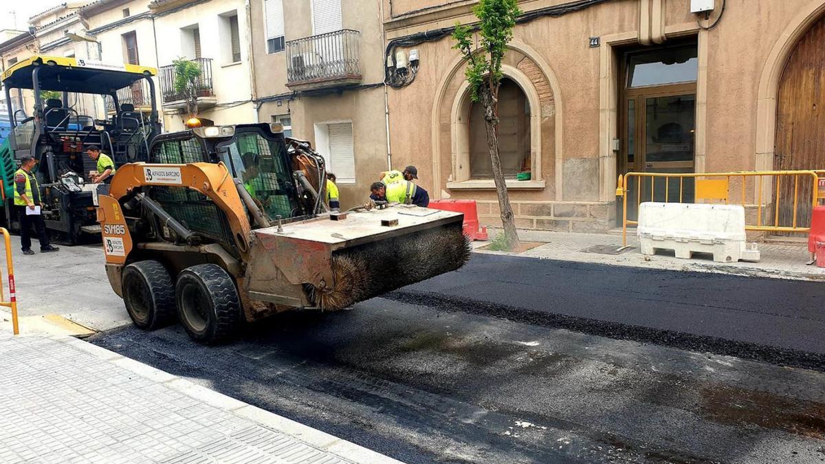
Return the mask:
<svg viewBox="0 0 825 464"><path fill-rule="evenodd" d="M474 102L481 98L481 88L488 86L494 99L498 96L498 86L502 81L502 59L507 52L507 43L512 40L516 18L521 14L517 0L479 0L473 8L479 18L477 26L461 26L456 23L453 31L455 45L468 61L465 71ZM481 36L479 52L474 50L474 34Z"/></svg>

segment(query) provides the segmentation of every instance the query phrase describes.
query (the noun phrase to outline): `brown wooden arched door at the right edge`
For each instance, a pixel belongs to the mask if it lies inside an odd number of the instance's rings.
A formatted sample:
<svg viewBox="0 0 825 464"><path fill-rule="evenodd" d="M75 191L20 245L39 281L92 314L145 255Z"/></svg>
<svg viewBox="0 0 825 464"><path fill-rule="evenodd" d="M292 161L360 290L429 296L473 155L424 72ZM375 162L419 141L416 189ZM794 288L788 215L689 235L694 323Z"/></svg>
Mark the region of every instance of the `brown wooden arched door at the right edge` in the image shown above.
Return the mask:
<svg viewBox="0 0 825 464"><path fill-rule="evenodd" d="M779 84L774 168L825 169L825 18L799 40ZM811 181L780 185L780 225L794 220L794 191L799 188L797 225L810 225ZM775 196L775 193L774 193Z"/></svg>

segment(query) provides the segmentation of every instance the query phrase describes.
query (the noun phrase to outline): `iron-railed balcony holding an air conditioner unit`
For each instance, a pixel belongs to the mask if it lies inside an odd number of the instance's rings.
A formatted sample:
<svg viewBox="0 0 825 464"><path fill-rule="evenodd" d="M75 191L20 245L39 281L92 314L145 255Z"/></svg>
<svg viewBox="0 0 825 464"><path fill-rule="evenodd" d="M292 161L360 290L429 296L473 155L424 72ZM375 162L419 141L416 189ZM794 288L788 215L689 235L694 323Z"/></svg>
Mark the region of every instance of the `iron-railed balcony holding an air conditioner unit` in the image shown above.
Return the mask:
<svg viewBox="0 0 825 464"><path fill-rule="evenodd" d="M303 92L361 83L361 32L345 29L286 42L286 87Z"/></svg>

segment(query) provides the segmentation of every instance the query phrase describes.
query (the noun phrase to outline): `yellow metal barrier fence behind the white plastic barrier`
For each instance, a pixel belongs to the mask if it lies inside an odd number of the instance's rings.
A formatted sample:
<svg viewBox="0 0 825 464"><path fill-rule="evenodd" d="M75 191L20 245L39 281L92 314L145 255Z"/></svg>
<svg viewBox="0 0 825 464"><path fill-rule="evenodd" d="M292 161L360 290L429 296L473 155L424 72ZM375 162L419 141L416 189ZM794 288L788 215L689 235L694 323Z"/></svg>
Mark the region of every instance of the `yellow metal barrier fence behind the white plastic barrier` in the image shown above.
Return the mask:
<svg viewBox="0 0 825 464"><path fill-rule="evenodd" d="M752 206L757 209L756 222L748 224L746 215L745 230L774 233L808 232L813 206L817 206L819 198L817 173L627 173L619 176L616 188L616 196L622 196L622 244L627 246L627 226L639 224L639 205L642 201L724 201L725 204L733 203L746 208ZM825 171L820 173L825 177ZM748 181L751 179L753 185L749 186ZM747 201L748 192L752 193L750 197L754 200L751 204ZM772 195L767 203L764 201L766 193ZM628 198L635 220L628 217Z"/></svg>

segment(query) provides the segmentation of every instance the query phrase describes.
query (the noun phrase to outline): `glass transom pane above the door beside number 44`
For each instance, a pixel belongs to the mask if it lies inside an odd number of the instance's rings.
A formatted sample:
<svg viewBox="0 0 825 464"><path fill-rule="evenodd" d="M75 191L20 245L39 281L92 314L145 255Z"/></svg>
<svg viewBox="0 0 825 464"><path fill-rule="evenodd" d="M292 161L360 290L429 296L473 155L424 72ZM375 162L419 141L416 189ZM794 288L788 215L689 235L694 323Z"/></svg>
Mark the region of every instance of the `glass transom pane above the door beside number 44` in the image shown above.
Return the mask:
<svg viewBox="0 0 825 464"><path fill-rule="evenodd" d="M695 82L698 69L695 46L631 54L628 87Z"/></svg>

